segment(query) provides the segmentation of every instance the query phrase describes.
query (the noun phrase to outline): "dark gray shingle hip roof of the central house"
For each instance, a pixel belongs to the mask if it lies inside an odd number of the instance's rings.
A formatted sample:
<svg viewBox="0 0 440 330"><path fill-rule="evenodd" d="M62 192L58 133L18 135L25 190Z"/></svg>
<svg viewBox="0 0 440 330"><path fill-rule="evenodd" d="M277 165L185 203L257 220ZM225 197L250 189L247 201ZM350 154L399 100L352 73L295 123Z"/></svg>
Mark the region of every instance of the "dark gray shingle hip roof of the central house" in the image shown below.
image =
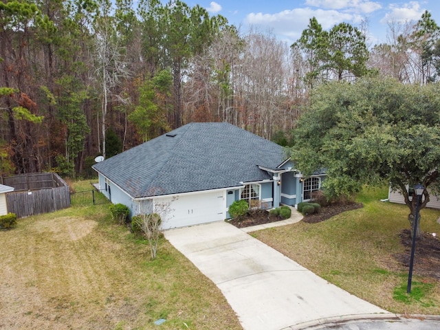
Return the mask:
<svg viewBox="0 0 440 330"><path fill-rule="evenodd" d="M170 135L175 135L174 137ZM240 186L272 179L283 147L225 122L190 123L93 166L132 197Z"/></svg>

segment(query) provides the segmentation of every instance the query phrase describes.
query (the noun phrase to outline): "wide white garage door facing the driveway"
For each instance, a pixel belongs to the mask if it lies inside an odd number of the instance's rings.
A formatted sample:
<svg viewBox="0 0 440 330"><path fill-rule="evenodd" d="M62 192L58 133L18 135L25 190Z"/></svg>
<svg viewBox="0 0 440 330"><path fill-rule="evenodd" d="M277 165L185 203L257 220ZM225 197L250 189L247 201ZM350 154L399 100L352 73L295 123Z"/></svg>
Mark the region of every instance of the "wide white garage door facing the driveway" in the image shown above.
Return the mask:
<svg viewBox="0 0 440 330"><path fill-rule="evenodd" d="M168 219L164 219L162 229L199 225L225 219L223 191L179 195L177 199L166 197L156 201L170 205Z"/></svg>

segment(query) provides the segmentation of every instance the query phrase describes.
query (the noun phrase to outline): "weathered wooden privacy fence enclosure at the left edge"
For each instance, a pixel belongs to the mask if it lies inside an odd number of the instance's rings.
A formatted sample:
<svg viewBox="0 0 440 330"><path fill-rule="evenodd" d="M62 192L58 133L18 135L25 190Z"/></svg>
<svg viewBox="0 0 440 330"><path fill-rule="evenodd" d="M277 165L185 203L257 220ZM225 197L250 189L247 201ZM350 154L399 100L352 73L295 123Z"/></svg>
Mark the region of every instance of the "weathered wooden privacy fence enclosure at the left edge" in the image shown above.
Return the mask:
<svg viewBox="0 0 440 330"><path fill-rule="evenodd" d="M69 186L56 173L33 173L2 177L3 184L14 187L6 194L8 212L18 218L53 212L70 206Z"/></svg>

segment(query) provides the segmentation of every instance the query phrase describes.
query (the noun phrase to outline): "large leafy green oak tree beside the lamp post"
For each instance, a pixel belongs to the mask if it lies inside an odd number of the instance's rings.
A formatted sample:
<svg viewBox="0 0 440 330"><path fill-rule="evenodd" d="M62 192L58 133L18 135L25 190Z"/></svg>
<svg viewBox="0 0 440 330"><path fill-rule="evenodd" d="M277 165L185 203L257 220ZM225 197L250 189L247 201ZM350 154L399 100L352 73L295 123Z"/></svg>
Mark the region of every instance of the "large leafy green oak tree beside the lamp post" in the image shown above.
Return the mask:
<svg viewBox="0 0 440 330"><path fill-rule="evenodd" d="M413 229L417 199L408 186L425 187L420 210L440 191L439 92L438 84L391 78L321 85L294 131L292 159L305 175L327 168L328 197L390 184L404 196Z"/></svg>

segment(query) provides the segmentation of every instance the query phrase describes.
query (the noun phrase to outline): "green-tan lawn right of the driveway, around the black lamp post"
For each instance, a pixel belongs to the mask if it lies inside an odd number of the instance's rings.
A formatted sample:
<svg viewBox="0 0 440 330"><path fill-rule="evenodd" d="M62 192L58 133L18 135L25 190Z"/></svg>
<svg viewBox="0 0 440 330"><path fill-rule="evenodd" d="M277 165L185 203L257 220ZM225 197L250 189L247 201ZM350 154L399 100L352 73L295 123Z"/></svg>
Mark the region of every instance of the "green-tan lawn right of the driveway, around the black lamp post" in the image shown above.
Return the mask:
<svg viewBox="0 0 440 330"><path fill-rule="evenodd" d="M399 262L406 252L399 234L409 228L408 207L382 202L388 190L366 190L357 201L364 208L338 214L320 223L294 225L252 233L327 281L388 311L440 314L440 269L419 276L417 253L412 293L406 294L408 267ZM438 210L421 211L421 230L440 232ZM437 236L438 239L438 236ZM433 254L439 265L439 252ZM421 256L419 256L421 259ZM435 277L437 274L437 278Z"/></svg>

